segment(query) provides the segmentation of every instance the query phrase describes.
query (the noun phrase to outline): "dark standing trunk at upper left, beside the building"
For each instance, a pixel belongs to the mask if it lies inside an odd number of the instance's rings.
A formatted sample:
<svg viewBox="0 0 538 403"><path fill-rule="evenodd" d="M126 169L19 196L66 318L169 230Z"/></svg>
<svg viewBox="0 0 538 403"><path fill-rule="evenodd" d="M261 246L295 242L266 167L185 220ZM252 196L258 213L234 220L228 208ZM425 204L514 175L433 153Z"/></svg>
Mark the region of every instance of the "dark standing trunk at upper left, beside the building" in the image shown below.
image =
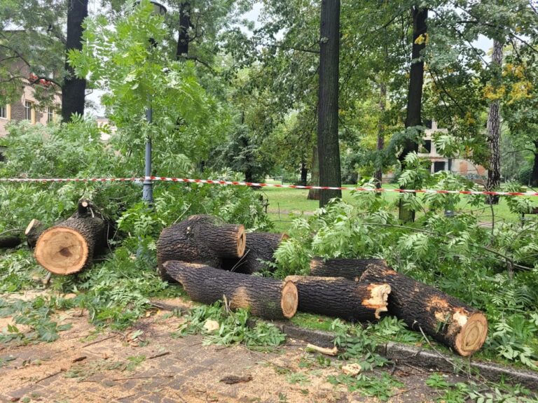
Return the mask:
<svg viewBox="0 0 538 403"><path fill-rule="evenodd" d="M67 2L67 50L82 49L82 22L88 17L88 0ZM84 115L86 80L76 78L73 68L65 62L67 76L62 86L62 118L71 121L71 115Z"/></svg>

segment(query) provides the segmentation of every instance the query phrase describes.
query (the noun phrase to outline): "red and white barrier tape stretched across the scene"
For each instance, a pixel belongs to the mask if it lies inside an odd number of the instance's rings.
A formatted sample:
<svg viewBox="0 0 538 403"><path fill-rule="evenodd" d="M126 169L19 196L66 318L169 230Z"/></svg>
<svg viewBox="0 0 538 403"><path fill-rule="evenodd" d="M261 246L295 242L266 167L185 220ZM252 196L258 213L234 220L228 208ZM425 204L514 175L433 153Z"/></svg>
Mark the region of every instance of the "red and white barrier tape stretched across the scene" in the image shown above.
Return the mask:
<svg viewBox="0 0 538 403"><path fill-rule="evenodd" d="M490 195L490 196L538 196L538 192L488 192L478 190L437 190L437 189L375 189L375 188L336 188L333 186L279 185L277 183L254 183L238 181L219 181L212 179L167 178L166 176L145 176L142 178L0 178L0 182L142 182L145 180L163 182L209 183L212 185L238 185L256 188L291 188L319 190L355 190L358 192L397 192L397 193L443 193L448 195Z"/></svg>

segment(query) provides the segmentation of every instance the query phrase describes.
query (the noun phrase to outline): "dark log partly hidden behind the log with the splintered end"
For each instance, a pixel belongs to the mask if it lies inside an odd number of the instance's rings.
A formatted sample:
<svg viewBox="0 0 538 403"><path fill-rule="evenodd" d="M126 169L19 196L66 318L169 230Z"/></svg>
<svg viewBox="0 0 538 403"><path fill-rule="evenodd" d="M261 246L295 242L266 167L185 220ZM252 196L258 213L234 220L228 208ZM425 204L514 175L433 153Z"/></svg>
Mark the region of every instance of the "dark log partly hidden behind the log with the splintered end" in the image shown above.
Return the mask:
<svg viewBox="0 0 538 403"><path fill-rule="evenodd" d="M382 259L326 259L314 257L310 261L310 276L343 277L359 281L368 264L386 266Z"/></svg>

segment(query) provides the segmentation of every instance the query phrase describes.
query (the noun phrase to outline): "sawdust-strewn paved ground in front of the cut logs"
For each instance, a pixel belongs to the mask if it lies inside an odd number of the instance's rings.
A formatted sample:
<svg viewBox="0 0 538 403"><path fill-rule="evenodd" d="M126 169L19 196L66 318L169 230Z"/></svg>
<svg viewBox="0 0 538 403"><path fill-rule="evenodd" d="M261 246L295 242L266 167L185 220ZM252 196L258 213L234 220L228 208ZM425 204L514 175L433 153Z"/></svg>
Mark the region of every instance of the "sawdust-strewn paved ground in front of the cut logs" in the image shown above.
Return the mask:
<svg viewBox="0 0 538 403"><path fill-rule="evenodd" d="M302 341L289 339L271 353L203 346L201 336L172 337L182 319L162 310L126 332L96 332L80 311L57 319L72 325L57 341L0 346L2 402L378 401L329 383L327 376L341 374L345 362L319 365L317 353L306 352ZM403 366L386 371L405 385L393 390L389 402L439 397L425 386L431 372ZM242 379L227 384L227 376Z"/></svg>

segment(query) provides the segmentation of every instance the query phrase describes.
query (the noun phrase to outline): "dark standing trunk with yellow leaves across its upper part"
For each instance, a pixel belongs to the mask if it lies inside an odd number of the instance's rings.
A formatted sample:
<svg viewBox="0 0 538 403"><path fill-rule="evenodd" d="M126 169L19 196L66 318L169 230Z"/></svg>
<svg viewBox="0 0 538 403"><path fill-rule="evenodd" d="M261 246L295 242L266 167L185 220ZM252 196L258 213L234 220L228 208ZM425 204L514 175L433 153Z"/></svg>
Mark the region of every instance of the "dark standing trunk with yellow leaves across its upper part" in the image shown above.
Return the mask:
<svg viewBox="0 0 538 403"><path fill-rule="evenodd" d="M409 73L409 89L407 93L407 112L406 128L422 125L422 85L424 84L424 60L420 52L426 47L426 41L417 43L417 38L427 34L426 20L428 9L413 6L413 50L411 51L411 71ZM408 153L418 152L418 143L407 140L403 144L403 151L399 156L400 162L403 162ZM415 211L403 206L400 201L399 218L403 222L413 222L415 220Z"/></svg>

